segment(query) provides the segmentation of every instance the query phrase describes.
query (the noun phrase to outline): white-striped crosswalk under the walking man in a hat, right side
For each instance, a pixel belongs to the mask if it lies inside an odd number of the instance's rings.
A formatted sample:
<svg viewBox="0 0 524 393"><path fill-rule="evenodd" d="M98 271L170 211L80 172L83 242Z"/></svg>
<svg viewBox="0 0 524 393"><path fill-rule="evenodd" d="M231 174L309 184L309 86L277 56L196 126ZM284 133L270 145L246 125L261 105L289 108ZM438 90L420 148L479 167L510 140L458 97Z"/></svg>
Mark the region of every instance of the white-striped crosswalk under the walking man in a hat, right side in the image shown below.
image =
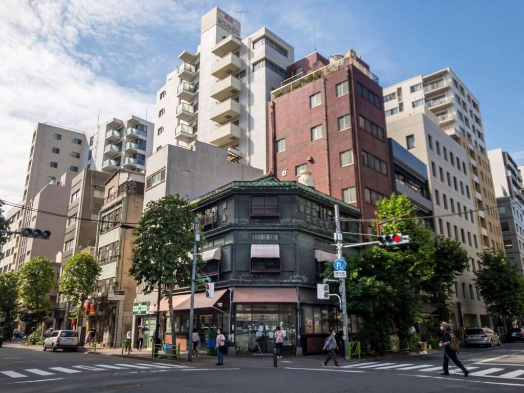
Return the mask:
<svg viewBox="0 0 524 393"><path fill-rule="evenodd" d="M517 379L524 380L524 369L506 369L500 367L486 367L482 363L476 365L464 365L470 372L470 377L492 377L503 379ZM453 366L457 374L462 375L462 370ZM450 364L450 374L453 374L453 367ZM340 368L350 369L364 369L364 370L406 370L420 373L441 373L442 366L435 366L432 364L412 364L412 363L382 363L382 362L365 362L341 366Z"/></svg>

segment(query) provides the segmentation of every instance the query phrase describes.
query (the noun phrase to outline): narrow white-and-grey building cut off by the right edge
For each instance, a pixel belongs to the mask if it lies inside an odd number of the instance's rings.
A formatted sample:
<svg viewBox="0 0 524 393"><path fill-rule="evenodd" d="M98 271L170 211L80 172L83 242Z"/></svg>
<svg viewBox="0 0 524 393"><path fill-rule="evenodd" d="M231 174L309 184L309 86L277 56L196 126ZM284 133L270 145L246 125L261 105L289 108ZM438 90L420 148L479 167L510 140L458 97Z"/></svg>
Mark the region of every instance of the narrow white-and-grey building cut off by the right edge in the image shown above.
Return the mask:
<svg viewBox="0 0 524 393"><path fill-rule="evenodd" d="M524 196L519 166L507 151L488 151L500 228L508 258L524 274Z"/></svg>

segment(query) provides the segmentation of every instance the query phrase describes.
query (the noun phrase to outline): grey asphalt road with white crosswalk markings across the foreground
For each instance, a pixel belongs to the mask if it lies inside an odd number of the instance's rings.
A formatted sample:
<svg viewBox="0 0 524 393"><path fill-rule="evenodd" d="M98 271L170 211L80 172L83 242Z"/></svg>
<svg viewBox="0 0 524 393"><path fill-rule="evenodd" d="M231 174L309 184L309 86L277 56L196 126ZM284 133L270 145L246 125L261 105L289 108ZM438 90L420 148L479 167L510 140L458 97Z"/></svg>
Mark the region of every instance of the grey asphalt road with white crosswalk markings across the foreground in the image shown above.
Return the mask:
<svg viewBox="0 0 524 393"><path fill-rule="evenodd" d="M35 392L521 392L524 343L499 348L468 348L459 358L470 370L441 376L442 353L400 356L382 361L341 361L323 367L320 357L280 361L228 358L196 364L148 362L86 353L43 352L6 343L0 348L0 391Z"/></svg>

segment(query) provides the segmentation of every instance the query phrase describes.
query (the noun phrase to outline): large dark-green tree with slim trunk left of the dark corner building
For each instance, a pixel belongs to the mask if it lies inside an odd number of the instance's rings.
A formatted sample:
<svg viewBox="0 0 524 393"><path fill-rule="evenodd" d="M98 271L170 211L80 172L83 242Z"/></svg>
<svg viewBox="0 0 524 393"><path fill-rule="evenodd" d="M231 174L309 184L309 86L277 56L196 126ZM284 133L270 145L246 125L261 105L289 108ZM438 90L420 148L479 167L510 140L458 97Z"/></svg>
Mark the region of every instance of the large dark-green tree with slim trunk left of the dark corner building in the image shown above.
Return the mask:
<svg viewBox="0 0 524 393"><path fill-rule="evenodd" d="M173 313L174 286L186 287L191 283L195 205L177 195L168 195L147 204L136 236L129 275L144 283L144 292L151 293L161 284L167 289L171 340L176 346ZM201 238L202 241L202 238ZM197 264L203 260L198 257Z"/></svg>

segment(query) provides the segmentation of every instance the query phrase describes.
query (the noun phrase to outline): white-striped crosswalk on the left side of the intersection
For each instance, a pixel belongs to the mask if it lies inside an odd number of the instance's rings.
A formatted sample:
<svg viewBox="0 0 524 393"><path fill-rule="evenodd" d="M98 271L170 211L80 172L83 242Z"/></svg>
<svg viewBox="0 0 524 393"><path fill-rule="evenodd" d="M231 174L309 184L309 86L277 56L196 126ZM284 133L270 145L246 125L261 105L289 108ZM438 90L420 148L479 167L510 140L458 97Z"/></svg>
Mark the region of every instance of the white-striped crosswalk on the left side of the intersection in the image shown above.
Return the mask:
<svg viewBox="0 0 524 393"><path fill-rule="evenodd" d="M9 378L29 378L31 376L57 376L89 372L103 372L114 370L128 370L136 372L142 371L159 371L168 369L190 369L191 366L181 366L175 364L162 363L115 363L115 364L94 364L94 365L73 365L68 367L45 367L45 368L25 368L22 370L0 370L0 377ZM2 379L2 378L0 378Z"/></svg>

